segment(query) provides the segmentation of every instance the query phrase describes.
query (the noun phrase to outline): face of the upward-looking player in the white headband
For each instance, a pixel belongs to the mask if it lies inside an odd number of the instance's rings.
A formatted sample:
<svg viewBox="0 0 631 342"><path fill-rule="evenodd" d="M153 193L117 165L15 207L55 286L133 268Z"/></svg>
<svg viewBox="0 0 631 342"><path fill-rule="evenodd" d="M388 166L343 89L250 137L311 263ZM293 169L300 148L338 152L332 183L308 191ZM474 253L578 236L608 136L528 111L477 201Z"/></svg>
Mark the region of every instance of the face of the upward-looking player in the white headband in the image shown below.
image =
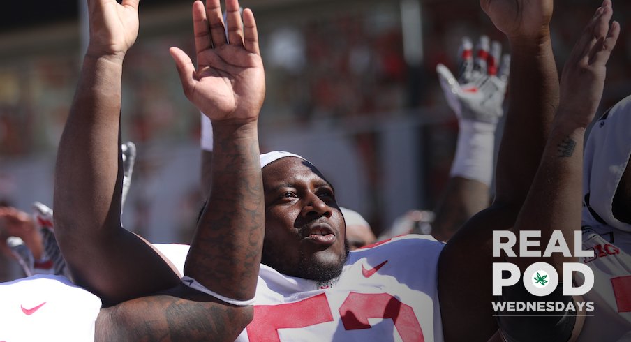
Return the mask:
<svg viewBox="0 0 631 342"><path fill-rule="evenodd" d="M331 184L310 163L285 157L262 170L265 239L262 263L288 276L329 281L348 248Z"/></svg>

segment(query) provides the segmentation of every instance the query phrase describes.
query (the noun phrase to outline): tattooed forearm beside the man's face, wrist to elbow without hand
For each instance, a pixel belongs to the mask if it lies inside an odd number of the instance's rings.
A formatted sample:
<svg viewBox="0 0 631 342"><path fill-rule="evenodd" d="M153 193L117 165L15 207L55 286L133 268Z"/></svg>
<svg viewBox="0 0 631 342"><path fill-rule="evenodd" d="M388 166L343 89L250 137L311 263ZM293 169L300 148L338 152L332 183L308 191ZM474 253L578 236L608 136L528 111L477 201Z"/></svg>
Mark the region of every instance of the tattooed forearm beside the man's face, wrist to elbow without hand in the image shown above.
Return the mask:
<svg viewBox="0 0 631 342"><path fill-rule="evenodd" d="M255 124L215 126L211 196L184 273L233 299L253 297L265 232ZM238 284L238 286L235 286Z"/></svg>

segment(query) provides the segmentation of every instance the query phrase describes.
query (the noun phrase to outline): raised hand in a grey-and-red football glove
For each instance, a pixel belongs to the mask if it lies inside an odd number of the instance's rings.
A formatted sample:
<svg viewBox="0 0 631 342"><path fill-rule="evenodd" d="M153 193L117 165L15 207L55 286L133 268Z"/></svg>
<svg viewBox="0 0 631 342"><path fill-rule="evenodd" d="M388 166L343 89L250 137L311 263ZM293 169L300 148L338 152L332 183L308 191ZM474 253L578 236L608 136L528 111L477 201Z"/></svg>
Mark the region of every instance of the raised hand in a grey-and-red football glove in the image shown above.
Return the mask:
<svg viewBox="0 0 631 342"><path fill-rule="evenodd" d="M459 50L458 78L443 64L436 66L447 104L459 119L495 124L504 114L510 57L505 55L499 66L501 51L502 45L493 41L489 53L489 38L482 36L474 59L473 43L465 37Z"/></svg>

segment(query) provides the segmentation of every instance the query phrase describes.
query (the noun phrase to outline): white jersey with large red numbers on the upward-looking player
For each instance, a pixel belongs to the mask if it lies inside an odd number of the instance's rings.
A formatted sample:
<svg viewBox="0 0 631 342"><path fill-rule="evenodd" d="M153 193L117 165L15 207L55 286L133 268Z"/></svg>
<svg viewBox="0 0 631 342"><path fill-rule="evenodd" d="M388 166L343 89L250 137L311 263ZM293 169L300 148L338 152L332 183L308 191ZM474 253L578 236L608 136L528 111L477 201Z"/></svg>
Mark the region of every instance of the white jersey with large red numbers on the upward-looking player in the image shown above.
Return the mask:
<svg viewBox="0 0 631 342"><path fill-rule="evenodd" d="M351 251L329 285L261 265L254 320L237 341L443 341L436 283L443 246L406 235ZM175 264L184 260L181 245L160 249Z"/></svg>

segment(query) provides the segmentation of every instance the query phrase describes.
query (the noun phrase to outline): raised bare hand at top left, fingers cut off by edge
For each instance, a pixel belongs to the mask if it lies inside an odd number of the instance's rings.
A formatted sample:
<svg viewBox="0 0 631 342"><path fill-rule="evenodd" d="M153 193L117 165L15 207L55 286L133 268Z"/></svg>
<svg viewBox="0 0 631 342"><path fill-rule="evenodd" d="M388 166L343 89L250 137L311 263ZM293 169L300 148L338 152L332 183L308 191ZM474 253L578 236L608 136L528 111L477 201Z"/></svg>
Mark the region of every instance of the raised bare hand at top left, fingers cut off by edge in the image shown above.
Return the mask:
<svg viewBox="0 0 631 342"><path fill-rule="evenodd" d="M112 56L121 60L138 36L139 0L89 0L92 57Z"/></svg>

